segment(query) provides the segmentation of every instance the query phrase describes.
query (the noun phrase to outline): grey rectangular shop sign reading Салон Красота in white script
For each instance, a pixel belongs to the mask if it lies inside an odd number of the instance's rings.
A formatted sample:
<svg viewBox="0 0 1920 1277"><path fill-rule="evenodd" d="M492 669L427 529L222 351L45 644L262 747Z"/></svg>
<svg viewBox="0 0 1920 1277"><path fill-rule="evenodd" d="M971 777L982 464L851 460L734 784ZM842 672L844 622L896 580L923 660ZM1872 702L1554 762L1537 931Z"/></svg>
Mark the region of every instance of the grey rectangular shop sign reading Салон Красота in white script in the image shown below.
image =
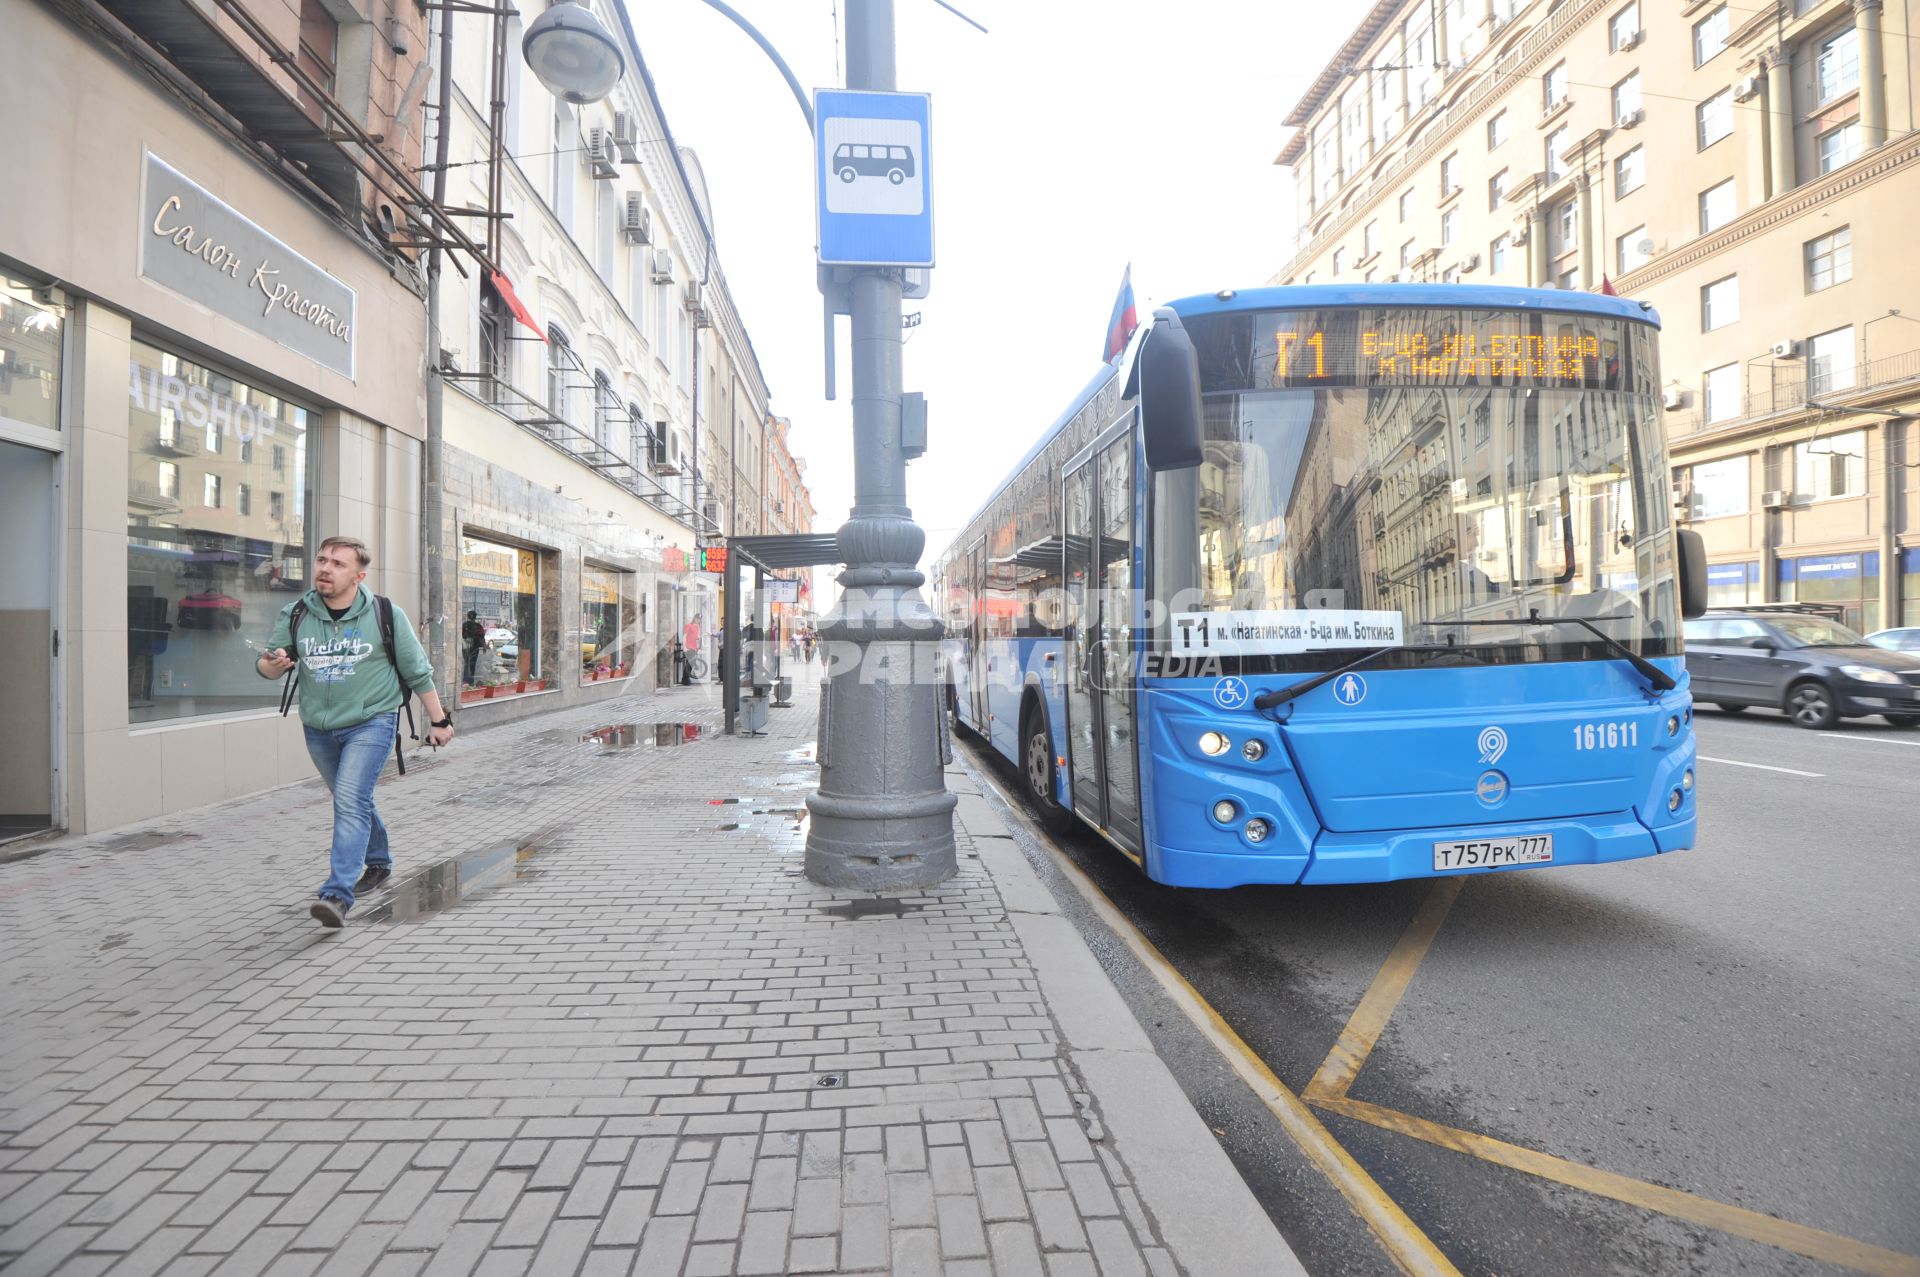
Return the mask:
<svg viewBox="0 0 1920 1277"><path fill-rule="evenodd" d="M140 275L353 376L353 290L146 156Z"/></svg>

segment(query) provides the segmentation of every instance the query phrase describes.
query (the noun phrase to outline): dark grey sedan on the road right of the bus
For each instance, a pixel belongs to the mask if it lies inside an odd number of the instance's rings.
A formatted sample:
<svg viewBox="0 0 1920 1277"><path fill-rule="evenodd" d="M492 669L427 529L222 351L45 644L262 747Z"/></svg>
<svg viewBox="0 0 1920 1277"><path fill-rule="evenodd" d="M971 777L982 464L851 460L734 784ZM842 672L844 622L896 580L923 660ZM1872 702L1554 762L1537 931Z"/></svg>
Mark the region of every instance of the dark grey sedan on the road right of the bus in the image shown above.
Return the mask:
<svg viewBox="0 0 1920 1277"><path fill-rule="evenodd" d="M1820 609L1709 609L1686 622L1693 701L1778 709L1803 728L1882 714L1920 728L1920 655L1874 647Z"/></svg>

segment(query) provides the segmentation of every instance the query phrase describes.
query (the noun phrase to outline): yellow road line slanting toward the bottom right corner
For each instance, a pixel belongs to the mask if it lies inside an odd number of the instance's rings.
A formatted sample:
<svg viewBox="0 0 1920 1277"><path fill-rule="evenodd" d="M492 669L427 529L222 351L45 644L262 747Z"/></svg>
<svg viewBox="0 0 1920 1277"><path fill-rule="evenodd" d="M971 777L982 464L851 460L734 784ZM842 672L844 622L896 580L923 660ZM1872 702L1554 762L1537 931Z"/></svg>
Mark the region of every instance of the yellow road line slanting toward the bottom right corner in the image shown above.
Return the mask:
<svg viewBox="0 0 1920 1277"><path fill-rule="evenodd" d="M1327 1112L1377 1125L1382 1131L1396 1131L1428 1144L1452 1148L1453 1152L1465 1152L1467 1156L1480 1158L1482 1162L1494 1162L1517 1171L1526 1171L1528 1175L1538 1175L1540 1179L1551 1179L1596 1196L1611 1196L1613 1200L1626 1202L1628 1206L1640 1206L1642 1210L1699 1223L1709 1229L1718 1229L1720 1233L1732 1233L1734 1237L1745 1237L1768 1246L1780 1246L1782 1250L1803 1254L1809 1260L1839 1264L1862 1273L1878 1273L1880 1277L1920 1277L1920 1258L1901 1254L1899 1250L1884 1250L1882 1246L1870 1246L1862 1241L1841 1237L1837 1233L1822 1233L1820 1229L1809 1229L1799 1223L1788 1223L1786 1219L1774 1219L1772 1216L1763 1216L1755 1210L1728 1206L1726 1202L1693 1196L1692 1193L1680 1193L1678 1189L1663 1189L1659 1185L1649 1185L1644 1179L1630 1179L1628 1175L1615 1175L1613 1171L1601 1171L1578 1162L1567 1162L1565 1158L1509 1144L1486 1135L1475 1135L1473 1131L1457 1131L1436 1121L1427 1121L1425 1118L1413 1118L1411 1114L1380 1108L1363 1100L1327 1096L1313 1102Z"/></svg>

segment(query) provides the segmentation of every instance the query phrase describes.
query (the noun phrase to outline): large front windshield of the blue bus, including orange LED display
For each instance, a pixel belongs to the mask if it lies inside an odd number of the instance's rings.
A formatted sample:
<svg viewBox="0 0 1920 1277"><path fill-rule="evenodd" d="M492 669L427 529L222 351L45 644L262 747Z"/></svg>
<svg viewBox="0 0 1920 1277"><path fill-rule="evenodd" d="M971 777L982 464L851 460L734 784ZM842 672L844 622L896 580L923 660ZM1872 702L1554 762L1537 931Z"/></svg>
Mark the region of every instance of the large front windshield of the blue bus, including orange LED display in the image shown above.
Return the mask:
<svg viewBox="0 0 1920 1277"><path fill-rule="evenodd" d="M1367 647L1488 663L1678 653L1649 325L1344 307L1202 315L1206 459L1154 484L1171 636L1242 668ZM1202 651L1192 643L1185 651Z"/></svg>

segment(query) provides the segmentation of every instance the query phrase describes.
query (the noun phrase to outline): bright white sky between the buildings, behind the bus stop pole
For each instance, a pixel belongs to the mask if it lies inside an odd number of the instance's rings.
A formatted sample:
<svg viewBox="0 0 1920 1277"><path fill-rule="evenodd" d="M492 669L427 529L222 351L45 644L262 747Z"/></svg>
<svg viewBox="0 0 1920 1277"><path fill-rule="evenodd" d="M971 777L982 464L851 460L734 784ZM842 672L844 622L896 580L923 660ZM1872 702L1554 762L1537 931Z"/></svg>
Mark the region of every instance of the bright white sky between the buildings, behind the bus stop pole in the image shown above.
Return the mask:
<svg viewBox="0 0 1920 1277"><path fill-rule="evenodd" d="M1156 301L1263 284L1292 253L1281 119L1359 0L895 0L899 88L931 94L935 269L906 330L927 396L906 467L931 563L1100 367L1121 273ZM852 503L849 321L824 396L812 138L787 83L701 0L626 0L674 140L701 159L716 250L772 411L831 532ZM732 0L803 90L845 83L845 0ZM837 10L837 19L835 19ZM837 35L839 33L839 35Z"/></svg>

